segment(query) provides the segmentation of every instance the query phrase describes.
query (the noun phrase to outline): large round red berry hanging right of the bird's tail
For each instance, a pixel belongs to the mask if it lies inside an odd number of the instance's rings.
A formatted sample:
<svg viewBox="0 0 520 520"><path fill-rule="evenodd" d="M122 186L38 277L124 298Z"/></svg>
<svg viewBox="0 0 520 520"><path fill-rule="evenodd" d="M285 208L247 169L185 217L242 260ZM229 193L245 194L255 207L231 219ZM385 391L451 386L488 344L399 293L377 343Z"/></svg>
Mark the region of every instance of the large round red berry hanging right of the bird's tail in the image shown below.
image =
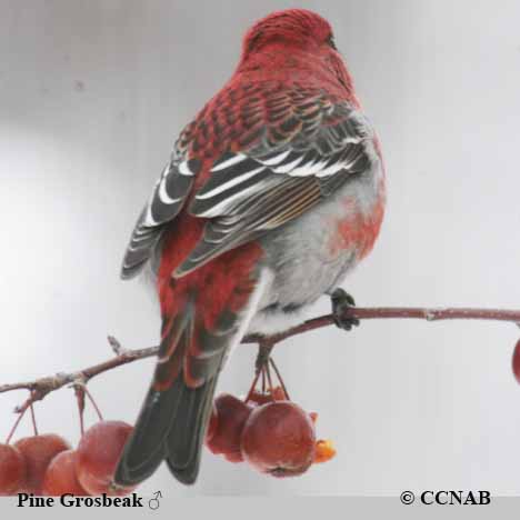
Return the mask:
<svg viewBox="0 0 520 520"><path fill-rule="evenodd" d="M254 409L242 432L242 456L273 477L301 474L314 459L316 432L309 414L291 401Z"/></svg>

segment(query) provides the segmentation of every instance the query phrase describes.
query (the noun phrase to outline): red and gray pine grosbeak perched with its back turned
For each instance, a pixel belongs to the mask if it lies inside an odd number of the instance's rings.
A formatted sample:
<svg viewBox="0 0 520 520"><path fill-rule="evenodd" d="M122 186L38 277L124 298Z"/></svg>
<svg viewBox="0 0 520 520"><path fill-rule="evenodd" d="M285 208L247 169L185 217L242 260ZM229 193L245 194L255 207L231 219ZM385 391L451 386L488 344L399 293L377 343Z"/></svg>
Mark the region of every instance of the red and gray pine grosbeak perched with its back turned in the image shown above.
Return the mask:
<svg viewBox="0 0 520 520"><path fill-rule="evenodd" d="M384 170L330 24L291 9L246 34L237 70L181 132L127 249L161 304L156 372L116 473L134 484L166 460L197 479L213 392L248 332L272 333L332 296L372 249Z"/></svg>

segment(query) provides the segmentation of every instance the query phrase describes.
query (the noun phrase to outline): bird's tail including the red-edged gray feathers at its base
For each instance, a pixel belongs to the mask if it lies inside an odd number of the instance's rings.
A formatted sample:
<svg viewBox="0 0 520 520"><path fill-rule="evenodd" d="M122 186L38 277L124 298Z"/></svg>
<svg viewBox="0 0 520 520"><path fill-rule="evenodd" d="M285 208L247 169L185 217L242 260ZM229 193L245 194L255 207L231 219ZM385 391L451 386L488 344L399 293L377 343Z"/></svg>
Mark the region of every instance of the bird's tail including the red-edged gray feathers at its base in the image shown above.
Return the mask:
<svg viewBox="0 0 520 520"><path fill-rule="evenodd" d="M211 376L198 381L197 374L187 373L187 370L193 372L187 362L189 352L202 336L197 333L194 306L188 303L178 317L169 321L163 326L152 384L119 460L116 483L121 486L143 481L164 459L174 477L183 483L194 482L199 471L226 344L223 338L218 339L213 356L208 356L202 363L203 373Z"/></svg>

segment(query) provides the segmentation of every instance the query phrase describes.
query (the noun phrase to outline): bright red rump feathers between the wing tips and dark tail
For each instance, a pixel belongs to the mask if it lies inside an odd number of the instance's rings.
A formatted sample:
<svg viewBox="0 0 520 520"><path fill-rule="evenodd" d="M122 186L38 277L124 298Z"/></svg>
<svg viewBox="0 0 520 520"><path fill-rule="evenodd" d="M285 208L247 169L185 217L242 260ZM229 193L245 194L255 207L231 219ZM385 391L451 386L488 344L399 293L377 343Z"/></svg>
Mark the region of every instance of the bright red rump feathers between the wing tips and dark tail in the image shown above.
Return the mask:
<svg viewBox="0 0 520 520"><path fill-rule="evenodd" d="M203 226L203 219L183 212L164 237L158 274L164 346L159 357L164 362L159 363L156 371L157 390L169 388L181 369L190 388L199 387L207 377L214 374L216 368L208 370L207 358L212 356L204 350L201 338L218 332L227 317L233 323L254 287L257 266L262 256L260 246L254 242L223 253L182 278L172 278L172 272L202 237ZM190 304L194 321L182 332L190 337L181 341L176 331ZM218 342L214 349L218 354Z"/></svg>

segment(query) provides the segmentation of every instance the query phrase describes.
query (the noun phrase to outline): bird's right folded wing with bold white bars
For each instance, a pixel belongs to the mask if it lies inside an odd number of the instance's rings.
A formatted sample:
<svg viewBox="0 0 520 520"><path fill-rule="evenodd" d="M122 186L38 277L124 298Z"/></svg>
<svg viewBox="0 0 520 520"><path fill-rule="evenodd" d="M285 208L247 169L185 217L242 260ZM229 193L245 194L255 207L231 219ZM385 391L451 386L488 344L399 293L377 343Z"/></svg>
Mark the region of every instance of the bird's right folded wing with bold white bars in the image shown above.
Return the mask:
<svg viewBox="0 0 520 520"><path fill-rule="evenodd" d="M289 93L266 106L253 144L226 151L191 200L188 211L209 220L176 277L296 219L370 167L371 126L351 104Z"/></svg>

